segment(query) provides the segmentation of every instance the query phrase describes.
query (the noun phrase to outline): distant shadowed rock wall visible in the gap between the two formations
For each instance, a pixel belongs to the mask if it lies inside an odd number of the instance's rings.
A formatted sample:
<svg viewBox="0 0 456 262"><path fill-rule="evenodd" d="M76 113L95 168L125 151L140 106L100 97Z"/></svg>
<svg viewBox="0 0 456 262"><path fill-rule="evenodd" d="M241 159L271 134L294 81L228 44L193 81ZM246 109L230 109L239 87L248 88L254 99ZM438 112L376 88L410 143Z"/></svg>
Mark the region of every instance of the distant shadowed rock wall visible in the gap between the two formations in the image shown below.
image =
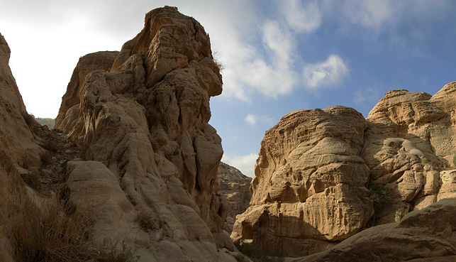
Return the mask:
<svg viewBox="0 0 456 262"><path fill-rule="evenodd" d="M244 175L237 168L233 168L226 163L221 162L217 170L218 193L226 197L228 202L228 211L226 213L223 230L231 234L236 216L242 214L249 207L250 198L250 181L247 175Z"/></svg>

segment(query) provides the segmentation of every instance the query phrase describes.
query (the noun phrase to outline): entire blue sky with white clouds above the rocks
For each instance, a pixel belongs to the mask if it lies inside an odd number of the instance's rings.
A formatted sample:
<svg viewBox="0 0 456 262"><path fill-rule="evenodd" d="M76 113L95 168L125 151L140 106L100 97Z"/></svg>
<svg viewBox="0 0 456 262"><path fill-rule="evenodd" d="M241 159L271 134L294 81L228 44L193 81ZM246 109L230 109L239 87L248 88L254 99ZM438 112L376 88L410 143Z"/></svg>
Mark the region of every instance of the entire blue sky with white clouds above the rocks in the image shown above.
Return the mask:
<svg viewBox="0 0 456 262"><path fill-rule="evenodd" d="M456 80L456 1L0 0L0 32L29 112L55 117L77 60L120 50L144 15L177 6L198 20L223 64L211 98L223 161L253 175L265 131L289 111L353 107L384 93L435 94Z"/></svg>

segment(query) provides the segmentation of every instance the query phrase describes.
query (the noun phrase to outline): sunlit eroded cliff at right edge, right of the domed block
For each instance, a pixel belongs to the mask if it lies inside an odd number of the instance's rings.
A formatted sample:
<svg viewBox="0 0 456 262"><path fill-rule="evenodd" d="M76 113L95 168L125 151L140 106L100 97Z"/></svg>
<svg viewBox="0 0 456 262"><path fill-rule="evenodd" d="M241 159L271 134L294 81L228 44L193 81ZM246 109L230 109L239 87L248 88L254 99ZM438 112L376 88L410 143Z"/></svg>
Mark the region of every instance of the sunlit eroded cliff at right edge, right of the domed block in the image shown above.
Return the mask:
<svg viewBox="0 0 456 262"><path fill-rule="evenodd" d="M453 165L455 90L455 82L434 96L393 90L370 111L361 156L371 170L370 184L386 185L393 197L392 204L377 210L375 224L398 222L455 192L451 172L440 171Z"/></svg>

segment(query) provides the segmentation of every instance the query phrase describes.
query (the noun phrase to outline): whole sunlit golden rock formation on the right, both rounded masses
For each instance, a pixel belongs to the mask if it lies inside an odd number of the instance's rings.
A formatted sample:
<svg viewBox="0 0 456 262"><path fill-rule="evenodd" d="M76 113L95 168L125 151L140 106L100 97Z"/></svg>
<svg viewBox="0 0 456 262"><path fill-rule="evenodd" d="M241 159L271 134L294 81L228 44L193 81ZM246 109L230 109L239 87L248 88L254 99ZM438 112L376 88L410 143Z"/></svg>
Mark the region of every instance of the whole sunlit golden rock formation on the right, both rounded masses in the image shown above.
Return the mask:
<svg viewBox="0 0 456 262"><path fill-rule="evenodd" d="M434 96L390 91L367 119L340 106L287 114L265 133L231 238L306 256L456 197L455 95L456 82Z"/></svg>

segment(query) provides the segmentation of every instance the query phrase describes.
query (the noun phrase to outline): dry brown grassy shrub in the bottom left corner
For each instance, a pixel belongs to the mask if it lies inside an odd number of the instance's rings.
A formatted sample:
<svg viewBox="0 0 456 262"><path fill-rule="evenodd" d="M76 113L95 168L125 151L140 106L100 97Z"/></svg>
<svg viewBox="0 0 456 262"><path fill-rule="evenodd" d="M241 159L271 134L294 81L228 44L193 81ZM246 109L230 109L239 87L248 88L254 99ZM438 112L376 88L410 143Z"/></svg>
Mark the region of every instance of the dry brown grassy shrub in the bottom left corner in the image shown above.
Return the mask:
<svg viewBox="0 0 456 262"><path fill-rule="evenodd" d="M61 199L56 193L46 200L28 201L22 220L13 224L17 261L84 262L136 261L134 252L123 246L94 246L89 242L91 212ZM109 259L109 260L106 260Z"/></svg>

